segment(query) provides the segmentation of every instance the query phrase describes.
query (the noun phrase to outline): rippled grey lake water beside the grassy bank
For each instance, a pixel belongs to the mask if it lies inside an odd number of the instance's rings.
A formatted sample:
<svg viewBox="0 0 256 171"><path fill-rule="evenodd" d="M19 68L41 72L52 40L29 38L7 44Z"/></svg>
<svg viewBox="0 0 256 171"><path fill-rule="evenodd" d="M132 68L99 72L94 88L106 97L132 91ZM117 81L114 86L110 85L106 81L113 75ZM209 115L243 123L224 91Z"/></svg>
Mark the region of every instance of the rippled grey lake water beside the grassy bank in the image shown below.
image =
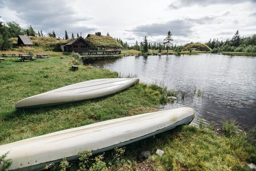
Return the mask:
<svg viewBox="0 0 256 171"><path fill-rule="evenodd" d="M256 58L219 54L125 56L94 65L176 90L178 101L162 110L189 106L194 124L234 118L248 129L256 121ZM182 94L184 100L182 100Z"/></svg>

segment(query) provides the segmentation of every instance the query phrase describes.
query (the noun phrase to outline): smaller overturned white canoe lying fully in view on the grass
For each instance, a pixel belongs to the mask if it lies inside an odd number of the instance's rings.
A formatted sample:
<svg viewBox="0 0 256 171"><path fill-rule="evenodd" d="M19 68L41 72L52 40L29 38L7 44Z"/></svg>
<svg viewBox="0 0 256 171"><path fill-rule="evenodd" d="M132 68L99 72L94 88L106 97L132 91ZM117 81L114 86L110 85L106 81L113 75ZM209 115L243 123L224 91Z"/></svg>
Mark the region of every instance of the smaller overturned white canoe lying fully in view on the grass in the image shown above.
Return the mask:
<svg viewBox="0 0 256 171"><path fill-rule="evenodd" d="M15 108L34 108L108 96L139 82L137 78L106 78L79 82L18 101Z"/></svg>

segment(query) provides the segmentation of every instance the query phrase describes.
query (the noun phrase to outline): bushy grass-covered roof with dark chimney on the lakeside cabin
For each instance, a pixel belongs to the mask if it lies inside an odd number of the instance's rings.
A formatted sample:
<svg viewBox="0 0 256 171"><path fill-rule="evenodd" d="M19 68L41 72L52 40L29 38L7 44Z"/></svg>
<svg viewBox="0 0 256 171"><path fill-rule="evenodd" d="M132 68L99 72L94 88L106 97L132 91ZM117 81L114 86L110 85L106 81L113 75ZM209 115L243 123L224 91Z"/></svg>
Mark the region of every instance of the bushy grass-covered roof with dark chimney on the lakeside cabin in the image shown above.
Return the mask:
<svg viewBox="0 0 256 171"><path fill-rule="evenodd" d="M88 34L84 39L91 50L120 49L122 46L111 36L103 36L100 32Z"/></svg>

